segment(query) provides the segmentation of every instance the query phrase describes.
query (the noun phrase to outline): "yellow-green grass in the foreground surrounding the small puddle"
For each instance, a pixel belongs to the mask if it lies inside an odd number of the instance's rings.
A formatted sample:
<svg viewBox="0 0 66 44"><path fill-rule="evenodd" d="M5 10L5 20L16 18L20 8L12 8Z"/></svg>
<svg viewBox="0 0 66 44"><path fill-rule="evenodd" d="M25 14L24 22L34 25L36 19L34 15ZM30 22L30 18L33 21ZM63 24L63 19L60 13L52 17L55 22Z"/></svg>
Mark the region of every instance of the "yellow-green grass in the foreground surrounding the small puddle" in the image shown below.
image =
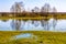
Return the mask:
<svg viewBox="0 0 66 44"><path fill-rule="evenodd" d="M14 35L32 33L36 38L10 40ZM66 44L66 32L0 31L0 44Z"/></svg>

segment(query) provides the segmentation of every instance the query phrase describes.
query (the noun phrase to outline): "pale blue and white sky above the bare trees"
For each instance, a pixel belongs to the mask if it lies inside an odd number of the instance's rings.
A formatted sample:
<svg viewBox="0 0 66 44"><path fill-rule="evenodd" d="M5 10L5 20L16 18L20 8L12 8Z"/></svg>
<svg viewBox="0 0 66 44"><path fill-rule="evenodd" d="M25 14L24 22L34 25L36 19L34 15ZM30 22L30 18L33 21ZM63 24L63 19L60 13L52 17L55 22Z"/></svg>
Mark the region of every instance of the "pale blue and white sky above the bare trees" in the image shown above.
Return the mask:
<svg viewBox="0 0 66 44"><path fill-rule="evenodd" d="M66 12L66 0L0 0L0 12L9 12L14 2L23 1L25 10L31 10L34 7L43 7L45 3L50 3L51 7L55 7L57 12Z"/></svg>

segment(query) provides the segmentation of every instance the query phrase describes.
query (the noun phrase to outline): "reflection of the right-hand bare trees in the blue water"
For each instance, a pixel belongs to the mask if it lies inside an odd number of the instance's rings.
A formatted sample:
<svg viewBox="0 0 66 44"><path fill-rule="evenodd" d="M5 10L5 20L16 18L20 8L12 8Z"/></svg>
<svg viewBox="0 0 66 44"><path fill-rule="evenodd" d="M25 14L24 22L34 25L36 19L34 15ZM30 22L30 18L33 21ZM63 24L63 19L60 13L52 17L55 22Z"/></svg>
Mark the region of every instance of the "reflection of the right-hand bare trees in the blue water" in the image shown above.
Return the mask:
<svg viewBox="0 0 66 44"><path fill-rule="evenodd" d="M53 19L51 22L41 20L42 26L44 28L44 30L47 30L47 31L51 29L51 26L53 26L53 29L55 29L56 22L57 21L55 19Z"/></svg>

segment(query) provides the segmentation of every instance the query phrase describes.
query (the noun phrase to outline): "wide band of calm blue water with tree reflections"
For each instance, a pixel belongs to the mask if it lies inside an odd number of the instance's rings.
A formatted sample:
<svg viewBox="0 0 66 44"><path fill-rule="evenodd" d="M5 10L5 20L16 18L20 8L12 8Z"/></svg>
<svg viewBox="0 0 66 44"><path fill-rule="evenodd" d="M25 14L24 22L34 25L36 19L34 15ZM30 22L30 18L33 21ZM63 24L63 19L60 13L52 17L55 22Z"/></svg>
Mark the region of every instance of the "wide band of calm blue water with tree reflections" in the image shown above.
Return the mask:
<svg viewBox="0 0 66 44"><path fill-rule="evenodd" d="M23 21L23 20L0 20L0 31L66 31L66 20L48 21Z"/></svg>

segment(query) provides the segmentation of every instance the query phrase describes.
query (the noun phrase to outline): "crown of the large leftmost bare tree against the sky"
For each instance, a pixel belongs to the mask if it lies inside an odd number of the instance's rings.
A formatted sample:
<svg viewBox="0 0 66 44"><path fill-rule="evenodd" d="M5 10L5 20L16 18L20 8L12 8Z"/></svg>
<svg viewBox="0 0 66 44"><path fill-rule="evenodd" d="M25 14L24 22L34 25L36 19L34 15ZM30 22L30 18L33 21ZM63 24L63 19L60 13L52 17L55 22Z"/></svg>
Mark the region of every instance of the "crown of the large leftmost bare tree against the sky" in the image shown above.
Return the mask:
<svg viewBox="0 0 66 44"><path fill-rule="evenodd" d="M22 12L24 11L23 8L23 2L15 2L12 7L11 7L11 12Z"/></svg>

